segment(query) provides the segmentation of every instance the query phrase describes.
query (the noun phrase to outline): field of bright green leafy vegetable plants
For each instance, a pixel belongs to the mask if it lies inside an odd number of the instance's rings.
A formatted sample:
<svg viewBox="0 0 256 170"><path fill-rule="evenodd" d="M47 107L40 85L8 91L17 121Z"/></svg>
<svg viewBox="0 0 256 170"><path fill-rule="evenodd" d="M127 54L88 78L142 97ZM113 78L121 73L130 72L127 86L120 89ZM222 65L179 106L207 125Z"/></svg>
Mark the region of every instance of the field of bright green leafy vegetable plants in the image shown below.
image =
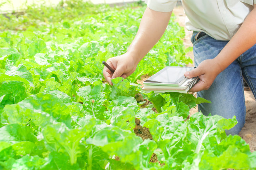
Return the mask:
<svg viewBox="0 0 256 170"><path fill-rule="evenodd" d="M145 5L65 3L0 15L0 169L256 168L248 144L225 134L235 118L187 120L210 101L134 84L192 62L175 16L136 71L109 86L101 62L126 51Z"/></svg>

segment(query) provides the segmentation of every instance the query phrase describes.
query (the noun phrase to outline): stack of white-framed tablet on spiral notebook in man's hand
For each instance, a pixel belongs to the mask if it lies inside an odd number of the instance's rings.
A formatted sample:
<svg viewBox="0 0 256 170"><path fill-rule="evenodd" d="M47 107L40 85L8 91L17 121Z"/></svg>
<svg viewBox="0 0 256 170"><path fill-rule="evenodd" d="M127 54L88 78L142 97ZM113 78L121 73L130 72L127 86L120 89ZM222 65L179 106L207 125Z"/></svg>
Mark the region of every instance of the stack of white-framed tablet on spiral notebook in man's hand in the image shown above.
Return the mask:
<svg viewBox="0 0 256 170"><path fill-rule="evenodd" d="M198 81L198 77L186 78L184 73L194 67L168 66L143 82L146 93L179 92L187 93Z"/></svg>

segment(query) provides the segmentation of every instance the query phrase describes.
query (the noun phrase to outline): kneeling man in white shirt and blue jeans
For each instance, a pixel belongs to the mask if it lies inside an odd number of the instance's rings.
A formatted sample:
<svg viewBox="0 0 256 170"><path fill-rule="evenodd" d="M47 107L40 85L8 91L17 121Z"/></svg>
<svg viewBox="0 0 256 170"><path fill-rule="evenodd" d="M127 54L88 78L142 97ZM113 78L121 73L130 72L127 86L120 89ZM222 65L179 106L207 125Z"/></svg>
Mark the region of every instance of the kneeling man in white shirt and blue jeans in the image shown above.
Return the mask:
<svg viewBox="0 0 256 170"><path fill-rule="evenodd" d="M111 79L131 75L139 61L157 43L168 25L177 0L146 0L147 8L139 30L127 52L110 58L103 75ZM183 0L186 28L193 30L191 42L195 68L186 77L199 76L190 90L212 104L200 104L199 110L224 118L236 115L238 124L227 134L238 134L245 123L243 79L256 96L256 0Z"/></svg>

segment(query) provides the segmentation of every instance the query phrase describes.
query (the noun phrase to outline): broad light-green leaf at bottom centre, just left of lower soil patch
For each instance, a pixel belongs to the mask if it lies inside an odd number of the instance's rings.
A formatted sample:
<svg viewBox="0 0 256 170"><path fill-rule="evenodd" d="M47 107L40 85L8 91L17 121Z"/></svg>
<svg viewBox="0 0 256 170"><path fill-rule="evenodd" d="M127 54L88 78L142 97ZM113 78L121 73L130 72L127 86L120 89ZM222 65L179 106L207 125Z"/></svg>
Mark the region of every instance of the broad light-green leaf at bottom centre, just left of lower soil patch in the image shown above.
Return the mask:
<svg viewBox="0 0 256 170"><path fill-rule="evenodd" d="M146 139L142 142L134 133L111 126L98 130L86 143L99 146L109 155L118 155L120 161L131 163L136 169L153 166L149 164L149 159L157 148L152 140Z"/></svg>

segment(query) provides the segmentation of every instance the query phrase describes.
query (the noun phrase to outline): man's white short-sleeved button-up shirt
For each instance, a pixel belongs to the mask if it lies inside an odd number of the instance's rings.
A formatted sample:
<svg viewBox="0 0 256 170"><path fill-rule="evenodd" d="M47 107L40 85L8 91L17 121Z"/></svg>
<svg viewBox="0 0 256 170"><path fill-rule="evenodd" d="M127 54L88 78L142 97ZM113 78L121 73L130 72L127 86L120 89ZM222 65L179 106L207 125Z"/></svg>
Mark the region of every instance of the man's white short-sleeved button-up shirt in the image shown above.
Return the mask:
<svg viewBox="0 0 256 170"><path fill-rule="evenodd" d="M170 12L177 0L145 0L159 12ZM253 10L256 0L182 0L186 28L203 31L216 40L230 40Z"/></svg>

